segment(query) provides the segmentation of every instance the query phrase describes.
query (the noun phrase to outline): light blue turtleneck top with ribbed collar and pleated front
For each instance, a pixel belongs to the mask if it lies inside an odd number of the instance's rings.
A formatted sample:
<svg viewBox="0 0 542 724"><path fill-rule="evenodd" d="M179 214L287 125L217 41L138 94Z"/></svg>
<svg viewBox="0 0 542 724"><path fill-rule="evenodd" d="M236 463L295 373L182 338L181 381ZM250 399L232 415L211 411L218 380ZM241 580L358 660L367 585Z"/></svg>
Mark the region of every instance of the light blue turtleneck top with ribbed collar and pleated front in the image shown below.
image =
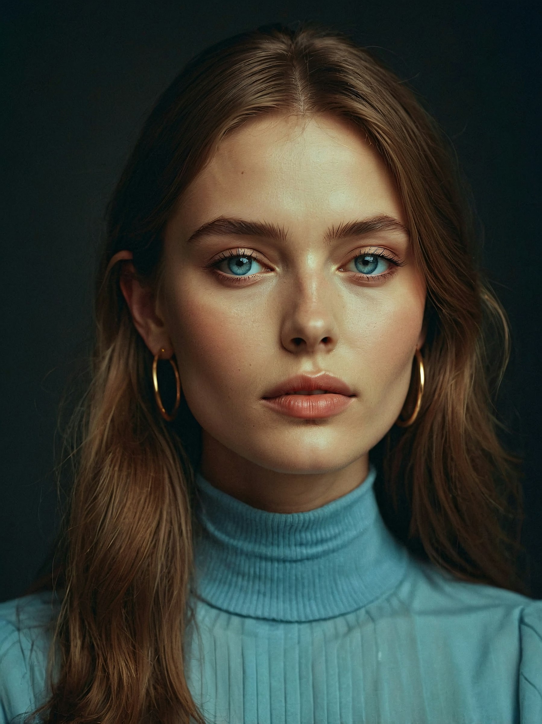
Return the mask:
<svg viewBox="0 0 542 724"><path fill-rule="evenodd" d="M198 474L185 665L206 720L541 724L542 602L415 561L382 521L375 476L284 514ZM50 594L0 605L2 724L45 695L52 611Z"/></svg>

